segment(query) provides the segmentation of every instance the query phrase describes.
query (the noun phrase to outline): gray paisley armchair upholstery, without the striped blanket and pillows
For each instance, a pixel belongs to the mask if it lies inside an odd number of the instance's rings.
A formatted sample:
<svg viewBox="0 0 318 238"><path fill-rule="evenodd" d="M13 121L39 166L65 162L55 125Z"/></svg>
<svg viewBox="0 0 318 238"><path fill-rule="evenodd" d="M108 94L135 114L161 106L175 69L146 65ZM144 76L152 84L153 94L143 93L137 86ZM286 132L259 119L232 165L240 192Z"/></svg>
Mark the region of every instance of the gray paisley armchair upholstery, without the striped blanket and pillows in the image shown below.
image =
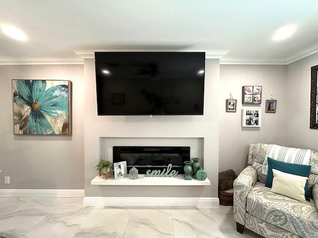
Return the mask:
<svg viewBox="0 0 318 238"><path fill-rule="evenodd" d="M249 166L234 181L234 220L265 238L318 238L318 153L312 151L310 158L311 201L300 202L265 187L261 171L267 147L249 147Z"/></svg>

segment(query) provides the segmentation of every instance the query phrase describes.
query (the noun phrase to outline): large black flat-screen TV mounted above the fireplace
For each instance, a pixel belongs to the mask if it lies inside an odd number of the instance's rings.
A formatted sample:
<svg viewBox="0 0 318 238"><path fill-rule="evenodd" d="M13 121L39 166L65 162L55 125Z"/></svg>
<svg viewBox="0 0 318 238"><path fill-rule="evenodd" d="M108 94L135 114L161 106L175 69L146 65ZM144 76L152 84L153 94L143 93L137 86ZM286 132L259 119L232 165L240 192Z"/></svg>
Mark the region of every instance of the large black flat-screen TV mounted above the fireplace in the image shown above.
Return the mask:
<svg viewBox="0 0 318 238"><path fill-rule="evenodd" d="M203 115L205 52L95 52L98 115Z"/></svg>

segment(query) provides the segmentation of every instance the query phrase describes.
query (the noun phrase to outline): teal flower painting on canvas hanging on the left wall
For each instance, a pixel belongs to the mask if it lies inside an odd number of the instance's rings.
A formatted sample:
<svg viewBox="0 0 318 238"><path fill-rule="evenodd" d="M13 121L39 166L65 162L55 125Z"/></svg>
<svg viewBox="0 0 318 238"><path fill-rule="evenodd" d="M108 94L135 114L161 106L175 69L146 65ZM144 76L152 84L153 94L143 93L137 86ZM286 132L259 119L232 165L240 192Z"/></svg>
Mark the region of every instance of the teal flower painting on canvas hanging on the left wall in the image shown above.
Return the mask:
<svg viewBox="0 0 318 238"><path fill-rule="evenodd" d="M70 135L69 84L12 80L14 134Z"/></svg>

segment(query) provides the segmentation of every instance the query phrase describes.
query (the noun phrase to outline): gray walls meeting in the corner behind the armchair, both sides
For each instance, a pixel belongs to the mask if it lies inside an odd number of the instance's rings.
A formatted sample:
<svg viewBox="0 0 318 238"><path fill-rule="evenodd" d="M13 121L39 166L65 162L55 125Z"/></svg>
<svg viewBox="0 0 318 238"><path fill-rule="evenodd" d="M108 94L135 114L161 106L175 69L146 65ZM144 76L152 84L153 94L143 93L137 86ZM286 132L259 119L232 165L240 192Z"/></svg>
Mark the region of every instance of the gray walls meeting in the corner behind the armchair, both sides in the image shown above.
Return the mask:
<svg viewBox="0 0 318 238"><path fill-rule="evenodd" d="M318 53L288 65L220 66L220 90L224 92L220 93L220 172L233 169L240 173L247 165L250 143L279 144L318 151L318 130L309 128L311 67L317 64ZM240 127L240 111L248 108L241 104L241 87L248 84L263 86L263 100L268 99L270 92L277 99L276 114L266 114L265 104L260 105L260 128ZM238 99L237 113L225 112L225 100L231 92Z"/></svg>

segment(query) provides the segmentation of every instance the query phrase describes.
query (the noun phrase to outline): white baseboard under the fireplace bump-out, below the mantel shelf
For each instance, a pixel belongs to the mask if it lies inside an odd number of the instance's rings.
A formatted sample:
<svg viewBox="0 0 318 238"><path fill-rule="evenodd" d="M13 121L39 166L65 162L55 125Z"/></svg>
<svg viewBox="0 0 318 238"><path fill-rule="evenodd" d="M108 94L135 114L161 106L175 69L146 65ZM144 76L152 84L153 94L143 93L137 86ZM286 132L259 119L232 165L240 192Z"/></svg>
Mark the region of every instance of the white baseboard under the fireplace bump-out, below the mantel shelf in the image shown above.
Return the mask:
<svg viewBox="0 0 318 238"><path fill-rule="evenodd" d="M217 197L84 197L84 206L218 207Z"/></svg>

